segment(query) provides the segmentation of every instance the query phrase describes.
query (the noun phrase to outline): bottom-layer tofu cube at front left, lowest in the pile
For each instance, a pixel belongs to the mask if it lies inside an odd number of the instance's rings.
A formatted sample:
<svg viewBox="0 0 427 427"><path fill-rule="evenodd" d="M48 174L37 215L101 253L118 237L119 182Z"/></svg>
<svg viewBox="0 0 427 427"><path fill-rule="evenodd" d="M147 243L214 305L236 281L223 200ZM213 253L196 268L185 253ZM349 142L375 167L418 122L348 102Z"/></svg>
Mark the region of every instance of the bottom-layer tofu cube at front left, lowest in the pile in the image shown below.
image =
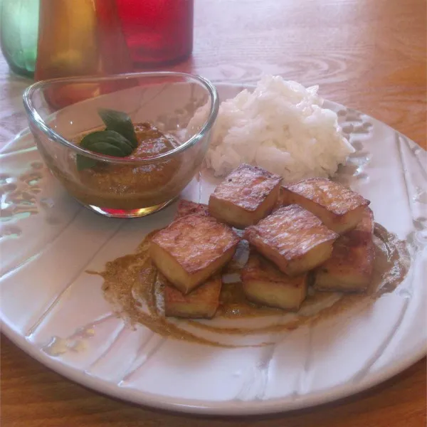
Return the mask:
<svg viewBox="0 0 427 427"><path fill-rule="evenodd" d="M221 285L221 275L214 275L193 292L184 295L180 290L166 283L164 286L164 314L190 319L211 319L218 309Z"/></svg>

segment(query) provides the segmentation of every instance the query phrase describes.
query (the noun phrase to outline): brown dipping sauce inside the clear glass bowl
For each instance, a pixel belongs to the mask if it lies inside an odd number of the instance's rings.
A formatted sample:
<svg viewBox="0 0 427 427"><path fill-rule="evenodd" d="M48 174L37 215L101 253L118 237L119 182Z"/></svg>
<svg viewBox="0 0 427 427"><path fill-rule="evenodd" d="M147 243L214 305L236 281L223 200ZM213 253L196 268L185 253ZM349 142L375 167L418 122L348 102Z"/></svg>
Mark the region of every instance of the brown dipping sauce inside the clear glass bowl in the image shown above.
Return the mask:
<svg viewBox="0 0 427 427"><path fill-rule="evenodd" d="M135 125L138 146L129 159L143 159L169 152L179 146L177 140L154 125ZM73 139L79 144L88 132ZM60 168L48 152L48 166L72 196L83 204L107 209L142 209L174 199L194 174L192 164L184 164L182 155L148 164L113 164L100 162L78 171L70 157ZM191 167L190 167L191 166Z"/></svg>

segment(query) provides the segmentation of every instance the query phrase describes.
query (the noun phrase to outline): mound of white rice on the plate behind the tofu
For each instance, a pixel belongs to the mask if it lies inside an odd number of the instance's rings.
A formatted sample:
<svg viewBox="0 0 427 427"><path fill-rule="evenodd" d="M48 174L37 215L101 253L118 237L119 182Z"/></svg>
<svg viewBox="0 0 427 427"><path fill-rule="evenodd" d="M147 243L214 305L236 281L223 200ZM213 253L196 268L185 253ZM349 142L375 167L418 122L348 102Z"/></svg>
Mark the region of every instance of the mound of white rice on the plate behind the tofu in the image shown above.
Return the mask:
<svg viewBox="0 0 427 427"><path fill-rule="evenodd" d="M317 89L266 75L252 93L243 90L221 102L206 166L225 176L248 163L287 182L332 176L354 149L342 135L337 114L322 108ZM196 111L189 130L203 125L208 110L205 105Z"/></svg>

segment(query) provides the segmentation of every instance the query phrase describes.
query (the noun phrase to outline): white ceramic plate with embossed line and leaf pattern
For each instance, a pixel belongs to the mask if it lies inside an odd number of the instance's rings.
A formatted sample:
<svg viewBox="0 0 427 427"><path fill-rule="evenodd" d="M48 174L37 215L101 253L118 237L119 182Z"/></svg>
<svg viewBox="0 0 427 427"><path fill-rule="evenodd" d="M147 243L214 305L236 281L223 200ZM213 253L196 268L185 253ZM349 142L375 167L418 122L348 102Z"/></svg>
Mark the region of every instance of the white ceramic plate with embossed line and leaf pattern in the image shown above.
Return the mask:
<svg viewBox="0 0 427 427"><path fill-rule="evenodd" d="M221 100L241 86L218 85ZM102 279L85 270L132 252L176 205L146 218L103 218L80 207L44 169L28 132L1 153L1 310L5 334L47 367L138 404L193 413L288 411L374 386L426 354L427 154L377 120L341 105L357 152L344 168L376 221L408 242L399 288L312 327L266 337L268 347L224 349L131 330L112 315ZM185 196L206 201L196 181ZM10 209L15 209L11 212ZM233 337L225 337L228 342Z"/></svg>

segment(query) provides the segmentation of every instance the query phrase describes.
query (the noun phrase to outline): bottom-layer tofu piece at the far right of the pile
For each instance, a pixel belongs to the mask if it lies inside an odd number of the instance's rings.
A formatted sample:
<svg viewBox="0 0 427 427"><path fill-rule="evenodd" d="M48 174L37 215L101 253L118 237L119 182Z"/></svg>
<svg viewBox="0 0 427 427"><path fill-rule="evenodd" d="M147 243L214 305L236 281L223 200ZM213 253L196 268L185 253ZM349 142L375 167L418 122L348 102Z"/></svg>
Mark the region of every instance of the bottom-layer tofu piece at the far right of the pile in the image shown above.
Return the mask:
<svg viewBox="0 0 427 427"><path fill-rule="evenodd" d="M364 210L354 230L339 236L332 256L315 270L314 288L338 292L364 292L374 269L375 247L372 241L374 216Z"/></svg>

